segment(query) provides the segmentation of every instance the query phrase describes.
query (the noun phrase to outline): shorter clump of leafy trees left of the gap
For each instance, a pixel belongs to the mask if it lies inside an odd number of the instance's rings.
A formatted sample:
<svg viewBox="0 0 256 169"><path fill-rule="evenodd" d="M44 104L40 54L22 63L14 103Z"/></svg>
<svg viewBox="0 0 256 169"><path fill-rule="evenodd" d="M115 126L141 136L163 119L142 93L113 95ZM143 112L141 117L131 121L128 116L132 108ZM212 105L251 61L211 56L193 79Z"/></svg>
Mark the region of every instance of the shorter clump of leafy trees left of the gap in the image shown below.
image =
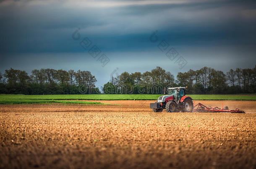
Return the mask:
<svg viewBox="0 0 256 169"><path fill-rule="evenodd" d="M4 79L3 79L4 78ZM0 73L0 93L11 94L91 94L100 93L90 71L40 69L26 71L10 68Z"/></svg>

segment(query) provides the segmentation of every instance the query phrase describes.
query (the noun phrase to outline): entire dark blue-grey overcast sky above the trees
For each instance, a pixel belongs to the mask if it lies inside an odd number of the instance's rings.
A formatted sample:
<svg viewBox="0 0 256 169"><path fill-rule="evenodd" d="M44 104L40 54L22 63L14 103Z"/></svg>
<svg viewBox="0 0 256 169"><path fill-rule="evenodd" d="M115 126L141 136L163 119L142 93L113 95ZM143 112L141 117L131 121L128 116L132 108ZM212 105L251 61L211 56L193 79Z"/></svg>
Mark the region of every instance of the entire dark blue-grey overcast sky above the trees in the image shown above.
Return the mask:
<svg viewBox="0 0 256 169"><path fill-rule="evenodd" d="M0 0L0 23L2 73L80 69L103 85L115 70L114 76L160 66L176 75L256 64L253 0ZM81 41L90 43L83 48ZM94 45L97 56L89 53Z"/></svg>

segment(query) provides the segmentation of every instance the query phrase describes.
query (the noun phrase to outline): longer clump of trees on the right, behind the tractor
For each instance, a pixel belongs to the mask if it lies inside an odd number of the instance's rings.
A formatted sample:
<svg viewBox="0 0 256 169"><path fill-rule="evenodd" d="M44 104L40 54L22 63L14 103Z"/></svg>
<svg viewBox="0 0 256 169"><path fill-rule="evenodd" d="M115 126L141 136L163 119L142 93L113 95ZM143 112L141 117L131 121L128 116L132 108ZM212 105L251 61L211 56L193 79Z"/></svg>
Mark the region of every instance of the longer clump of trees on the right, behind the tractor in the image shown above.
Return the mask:
<svg viewBox="0 0 256 169"><path fill-rule="evenodd" d="M124 72L112 77L104 84L104 93L147 93L161 94L164 88L188 86L190 94L235 94L255 93L256 66L252 69L236 68L227 73L214 68L203 67L199 70L179 72L176 80L172 73L157 67L144 73Z"/></svg>

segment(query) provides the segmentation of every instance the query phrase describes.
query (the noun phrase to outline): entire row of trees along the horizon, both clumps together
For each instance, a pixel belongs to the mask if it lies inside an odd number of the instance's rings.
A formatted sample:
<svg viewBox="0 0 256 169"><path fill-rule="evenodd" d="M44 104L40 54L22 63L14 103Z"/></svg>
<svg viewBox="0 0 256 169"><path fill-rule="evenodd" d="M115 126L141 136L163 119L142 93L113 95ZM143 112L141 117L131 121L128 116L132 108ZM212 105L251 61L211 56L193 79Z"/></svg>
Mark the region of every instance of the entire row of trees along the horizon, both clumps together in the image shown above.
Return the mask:
<svg viewBox="0 0 256 169"><path fill-rule="evenodd" d="M199 70L179 72L176 79L170 71L156 67L144 73L123 72L102 88L96 88L97 79L90 71L65 71L40 69L26 71L10 68L0 73L0 93L12 94L96 94L103 93L145 93L161 94L164 88L188 86L190 94L235 94L255 93L256 66L254 68L230 69L227 73L214 68L203 67Z"/></svg>

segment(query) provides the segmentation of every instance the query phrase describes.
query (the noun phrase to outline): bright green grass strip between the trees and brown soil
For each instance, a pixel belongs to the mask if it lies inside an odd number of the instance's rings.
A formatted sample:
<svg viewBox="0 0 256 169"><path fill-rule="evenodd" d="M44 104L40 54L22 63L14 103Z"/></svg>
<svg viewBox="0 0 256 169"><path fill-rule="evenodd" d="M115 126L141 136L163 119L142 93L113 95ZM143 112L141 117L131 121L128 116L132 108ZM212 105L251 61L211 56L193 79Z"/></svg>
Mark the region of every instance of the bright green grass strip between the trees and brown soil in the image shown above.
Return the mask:
<svg viewBox="0 0 256 169"><path fill-rule="evenodd" d="M87 94L87 95L23 95L0 94L0 104L20 103L84 103L78 100L157 100L159 94ZM241 100L256 101L256 95L189 95L193 100Z"/></svg>

